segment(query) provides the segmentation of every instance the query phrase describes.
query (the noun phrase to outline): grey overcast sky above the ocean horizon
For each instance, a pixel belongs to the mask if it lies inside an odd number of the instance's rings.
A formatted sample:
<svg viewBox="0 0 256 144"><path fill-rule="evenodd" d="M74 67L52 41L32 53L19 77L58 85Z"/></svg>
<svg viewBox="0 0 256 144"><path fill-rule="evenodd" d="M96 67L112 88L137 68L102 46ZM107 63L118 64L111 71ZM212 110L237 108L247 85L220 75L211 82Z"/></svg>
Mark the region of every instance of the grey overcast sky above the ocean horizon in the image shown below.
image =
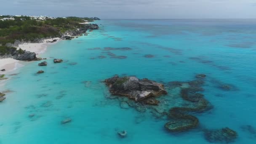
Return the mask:
<svg viewBox="0 0 256 144"><path fill-rule="evenodd" d="M0 15L6 14L102 19L256 19L256 0L0 0Z"/></svg>

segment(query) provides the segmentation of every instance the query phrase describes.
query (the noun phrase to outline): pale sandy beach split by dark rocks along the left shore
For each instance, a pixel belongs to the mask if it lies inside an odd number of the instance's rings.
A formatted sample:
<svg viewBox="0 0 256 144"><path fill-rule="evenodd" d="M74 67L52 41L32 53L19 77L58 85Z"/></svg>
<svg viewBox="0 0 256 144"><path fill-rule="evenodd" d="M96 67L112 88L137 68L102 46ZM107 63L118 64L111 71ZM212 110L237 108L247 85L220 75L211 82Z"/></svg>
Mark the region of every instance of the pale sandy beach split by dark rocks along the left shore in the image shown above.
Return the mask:
<svg viewBox="0 0 256 144"><path fill-rule="evenodd" d="M57 40L54 43L47 43L47 41ZM20 44L17 49L21 48L22 50L35 52L36 54L44 53L47 49L47 46L50 44L55 44L59 42L61 39L59 37L45 39L43 43L23 43ZM11 71L16 70L19 67L24 66L24 61L18 61L15 59L7 58L7 59L0 59L0 70L5 69L5 71L0 71L0 74L9 74Z"/></svg>

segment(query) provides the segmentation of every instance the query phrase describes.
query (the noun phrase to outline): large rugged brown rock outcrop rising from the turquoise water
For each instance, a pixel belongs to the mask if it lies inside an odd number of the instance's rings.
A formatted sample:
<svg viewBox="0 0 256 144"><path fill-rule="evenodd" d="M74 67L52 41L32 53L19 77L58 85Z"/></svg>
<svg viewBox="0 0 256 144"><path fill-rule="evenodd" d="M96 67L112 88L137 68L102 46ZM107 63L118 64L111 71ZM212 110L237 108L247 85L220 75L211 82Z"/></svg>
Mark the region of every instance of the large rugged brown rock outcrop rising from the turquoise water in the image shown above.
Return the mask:
<svg viewBox="0 0 256 144"><path fill-rule="evenodd" d="M164 85L146 78L114 76L105 80L109 91L113 95L127 96L134 101L144 101L167 94Z"/></svg>

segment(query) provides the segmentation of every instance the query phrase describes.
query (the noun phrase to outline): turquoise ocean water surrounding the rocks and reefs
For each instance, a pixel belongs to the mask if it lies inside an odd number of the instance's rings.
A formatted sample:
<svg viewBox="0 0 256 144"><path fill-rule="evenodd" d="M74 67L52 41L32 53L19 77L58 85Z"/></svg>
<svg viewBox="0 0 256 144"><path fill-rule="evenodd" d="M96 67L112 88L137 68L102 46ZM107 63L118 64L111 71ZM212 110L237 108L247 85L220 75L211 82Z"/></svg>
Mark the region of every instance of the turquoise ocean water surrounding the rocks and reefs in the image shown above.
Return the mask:
<svg viewBox="0 0 256 144"><path fill-rule="evenodd" d="M47 67L34 61L7 76L11 80L0 91L13 92L0 103L0 144L208 144L202 129L224 127L237 131L234 144L256 144L256 132L241 128L256 128L256 20L96 23L101 28L88 36L50 45L40 55L48 58ZM127 58L111 58L107 52ZM64 62L53 64L53 57ZM35 75L41 69L45 73ZM120 108L118 99L107 99L102 83L115 74L168 83L195 80L198 73L207 75L203 94L213 109L193 114L200 128L178 134L166 131L167 120L150 110ZM220 85L232 85L232 90ZM179 106L182 99L168 92L166 101ZM61 125L66 118L72 122ZM121 139L120 130L127 137Z"/></svg>

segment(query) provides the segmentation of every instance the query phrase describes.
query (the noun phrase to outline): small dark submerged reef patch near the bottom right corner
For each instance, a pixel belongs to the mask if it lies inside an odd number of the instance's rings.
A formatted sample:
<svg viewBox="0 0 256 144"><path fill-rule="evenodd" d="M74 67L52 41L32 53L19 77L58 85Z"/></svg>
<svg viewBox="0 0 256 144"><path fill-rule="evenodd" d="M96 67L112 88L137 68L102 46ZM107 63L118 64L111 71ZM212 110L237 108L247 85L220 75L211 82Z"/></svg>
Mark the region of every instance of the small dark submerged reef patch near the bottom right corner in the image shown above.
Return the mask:
<svg viewBox="0 0 256 144"><path fill-rule="evenodd" d="M233 131L230 128L221 128L217 130L205 130L204 131L205 139L209 142L225 142L230 143L237 139L237 132Z"/></svg>

